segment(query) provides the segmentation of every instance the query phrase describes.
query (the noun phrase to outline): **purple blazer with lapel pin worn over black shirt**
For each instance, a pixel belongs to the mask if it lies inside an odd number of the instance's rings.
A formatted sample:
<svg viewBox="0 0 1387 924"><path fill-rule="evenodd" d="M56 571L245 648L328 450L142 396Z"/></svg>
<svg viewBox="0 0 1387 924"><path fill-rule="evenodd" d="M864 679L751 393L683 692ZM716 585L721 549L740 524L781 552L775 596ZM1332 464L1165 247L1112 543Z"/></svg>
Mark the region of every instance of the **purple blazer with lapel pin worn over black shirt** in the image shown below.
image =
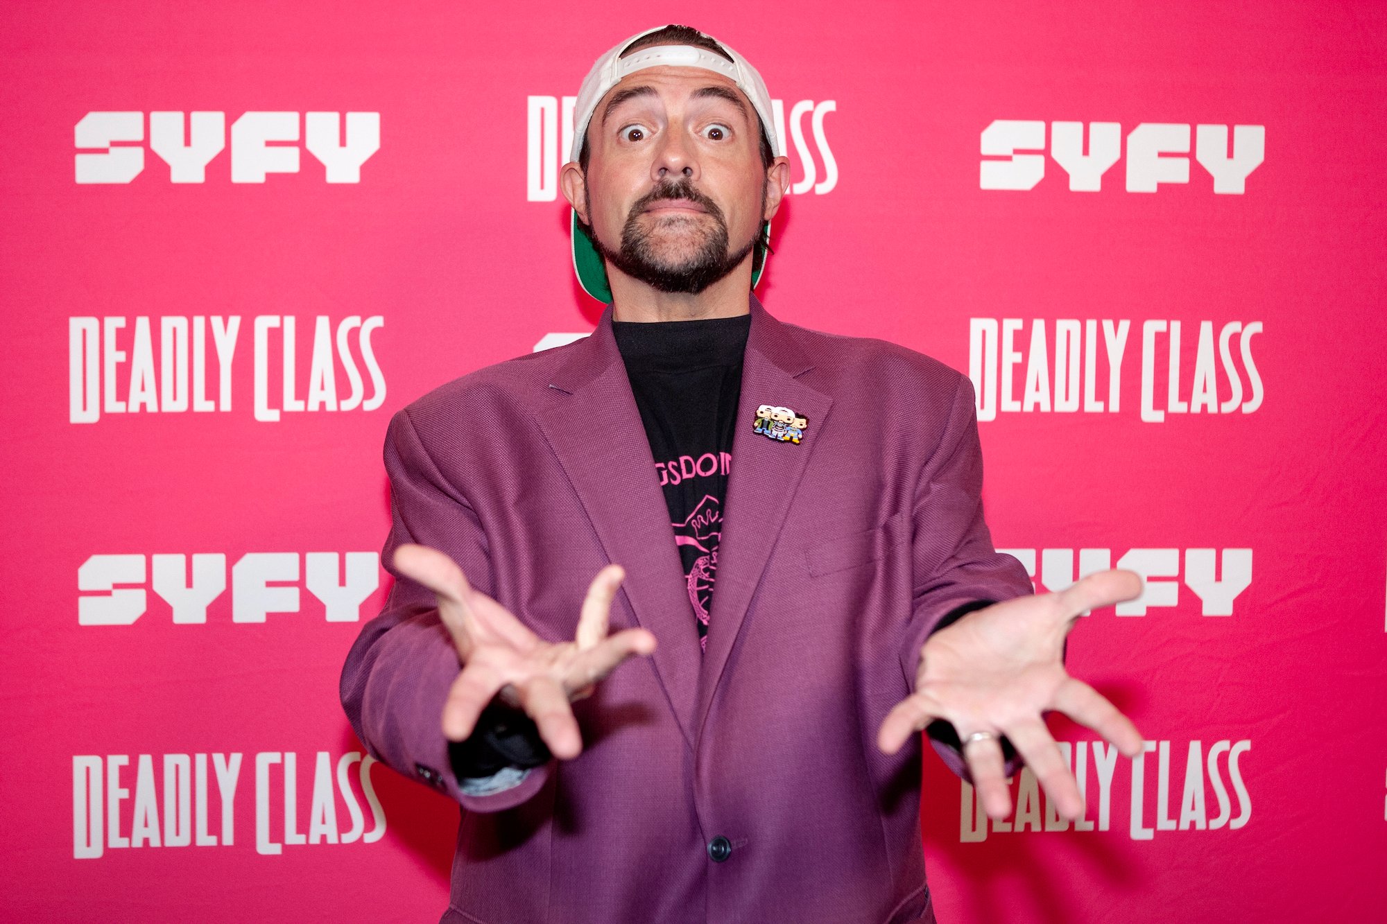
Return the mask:
<svg viewBox="0 0 1387 924"><path fill-rule="evenodd" d="M888 758L877 728L945 613L1029 594L1031 579L983 523L965 376L784 323L755 296L750 311L705 655L610 307L591 337L391 419L387 569L399 542L442 549L559 641L617 562L612 630L659 640L574 703L578 758L472 796L440 728L458 655L433 594L395 574L341 698L372 755L462 805L444 921L933 920L921 737ZM760 404L807 416L803 441L755 433Z"/></svg>

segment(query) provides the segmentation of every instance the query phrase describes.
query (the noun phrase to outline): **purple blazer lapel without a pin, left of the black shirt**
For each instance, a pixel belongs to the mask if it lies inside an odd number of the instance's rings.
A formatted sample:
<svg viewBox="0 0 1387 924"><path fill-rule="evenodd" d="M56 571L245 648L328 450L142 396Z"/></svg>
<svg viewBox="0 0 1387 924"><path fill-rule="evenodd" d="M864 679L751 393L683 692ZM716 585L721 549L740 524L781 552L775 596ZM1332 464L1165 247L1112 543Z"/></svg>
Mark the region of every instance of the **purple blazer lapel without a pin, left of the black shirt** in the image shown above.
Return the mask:
<svg viewBox="0 0 1387 924"><path fill-rule="evenodd" d="M652 655L656 674L692 748L700 660L696 620L655 458L612 334L610 305L570 354L549 384L566 398L538 415L540 430L609 561L626 569L620 592L659 640Z"/></svg>

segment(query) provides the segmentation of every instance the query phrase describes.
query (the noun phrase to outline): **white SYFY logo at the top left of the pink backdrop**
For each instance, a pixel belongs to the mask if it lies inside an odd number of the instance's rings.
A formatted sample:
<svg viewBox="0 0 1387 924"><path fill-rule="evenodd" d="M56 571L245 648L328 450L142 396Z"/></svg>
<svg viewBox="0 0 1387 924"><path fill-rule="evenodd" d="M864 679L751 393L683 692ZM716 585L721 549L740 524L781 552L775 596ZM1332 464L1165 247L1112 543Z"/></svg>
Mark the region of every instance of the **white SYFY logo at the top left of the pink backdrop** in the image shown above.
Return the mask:
<svg viewBox="0 0 1387 924"><path fill-rule="evenodd" d="M232 182L297 173L298 122L298 112L245 112L232 122ZM75 155L78 183L129 183L144 171L144 112L87 112L72 135L83 151ZM307 112L302 137L329 183L359 183L361 165L380 150L380 112L348 112L345 135L340 112ZM148 139L171 183L203 183L226 148L226 114L193 112L184 122L183 112L150 112Z"/></svg>

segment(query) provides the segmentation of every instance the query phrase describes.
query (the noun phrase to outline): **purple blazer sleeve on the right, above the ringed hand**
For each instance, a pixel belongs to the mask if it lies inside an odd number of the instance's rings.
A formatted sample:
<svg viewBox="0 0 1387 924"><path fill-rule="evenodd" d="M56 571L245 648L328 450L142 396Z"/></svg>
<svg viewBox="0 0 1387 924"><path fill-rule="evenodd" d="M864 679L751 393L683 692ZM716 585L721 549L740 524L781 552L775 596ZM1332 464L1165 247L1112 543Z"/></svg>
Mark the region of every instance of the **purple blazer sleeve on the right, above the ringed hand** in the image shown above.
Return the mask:
<svg viewBox="0 0 1387 924"><path fill-rule="evenodd" d="M982 444L972 383L963 375L939 445L921 472L911 519L913 605L900 665L914 687L931 633L986 604L1035 592L1021 562L993 548L982 517ZM928 735L949 769L971 782L953 726L935 721ZM1006 738L1003 752L1010 777L1021 760Z"/></svg>

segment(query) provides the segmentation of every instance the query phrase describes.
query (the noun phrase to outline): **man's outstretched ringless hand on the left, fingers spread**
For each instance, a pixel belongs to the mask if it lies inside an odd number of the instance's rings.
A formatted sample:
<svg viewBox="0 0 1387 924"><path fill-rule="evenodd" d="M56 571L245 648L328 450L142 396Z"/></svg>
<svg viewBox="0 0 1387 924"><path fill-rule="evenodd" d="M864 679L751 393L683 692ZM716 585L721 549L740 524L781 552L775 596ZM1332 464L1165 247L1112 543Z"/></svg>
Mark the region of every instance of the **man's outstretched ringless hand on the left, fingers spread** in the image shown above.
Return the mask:
<svg viewBox="0 0 1387 924"><path fill-rule="evenodd" d="M442 708L442 733L465 741L491 698L524 709L549 751L565 760L583 751L583 735L569 703L589 695L628 655L649 655L655 635L626 628L608 635L612 598L626 573L608 565L588 587L570 642L535 635L505 606L473 590L456 562L427 545L395 549L395 567L438 598L438 616L452 634L462 673Z"/></svg>

